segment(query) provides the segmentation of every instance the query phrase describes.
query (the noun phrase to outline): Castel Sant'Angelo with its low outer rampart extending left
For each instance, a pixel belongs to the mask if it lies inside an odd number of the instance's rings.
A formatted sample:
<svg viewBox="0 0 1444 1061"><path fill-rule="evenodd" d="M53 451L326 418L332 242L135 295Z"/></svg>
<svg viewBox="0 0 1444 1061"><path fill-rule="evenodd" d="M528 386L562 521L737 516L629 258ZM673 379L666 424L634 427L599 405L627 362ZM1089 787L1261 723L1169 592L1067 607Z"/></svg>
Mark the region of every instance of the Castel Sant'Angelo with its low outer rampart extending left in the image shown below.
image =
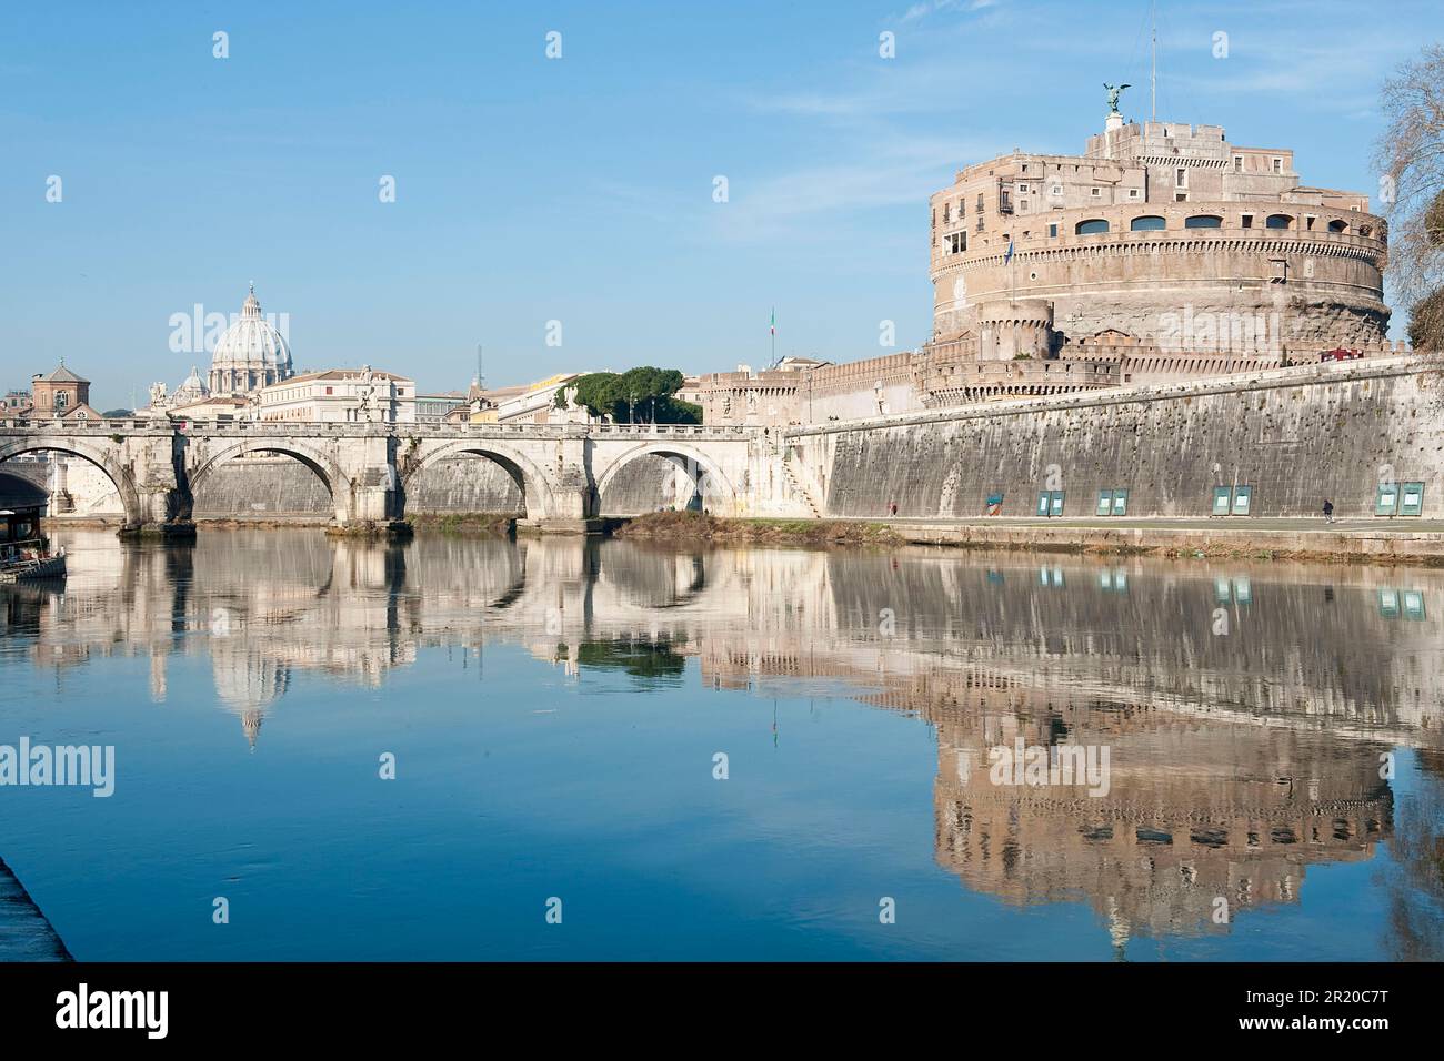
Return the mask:
<svg viewBox="0 0 1444 1061"><path fill-rule="evenodd" d="M849 364L702 377L709 423L816 423L1386 352L1386 225L1282 147L1129 121L931 196L933 335ZM793 371L786 371L793 365Z"/></svg>

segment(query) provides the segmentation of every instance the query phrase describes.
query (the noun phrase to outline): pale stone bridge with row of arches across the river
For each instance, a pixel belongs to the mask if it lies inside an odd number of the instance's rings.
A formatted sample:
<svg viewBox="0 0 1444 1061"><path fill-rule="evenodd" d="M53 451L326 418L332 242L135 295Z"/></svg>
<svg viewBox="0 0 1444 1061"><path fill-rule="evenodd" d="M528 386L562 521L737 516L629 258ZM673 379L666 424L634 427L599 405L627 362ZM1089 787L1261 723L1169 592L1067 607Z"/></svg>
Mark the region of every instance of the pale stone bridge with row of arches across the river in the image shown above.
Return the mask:
<svg viewBox="0 0 1444 1061"><path fill-rule="evenodd" d="M380 530L406 517L407 484L438 460L490 459L526 501L524 525L585 531L612 479L634 460L676 468L677 498L719 515L807 515L780 469L780 439L755 427L683 424L349 424L0 420L0 462L51 450L82 458L116 485L123 533L192 525L193 499L218 468L248 455L284 455L325 484L342 530Z"/></svg>

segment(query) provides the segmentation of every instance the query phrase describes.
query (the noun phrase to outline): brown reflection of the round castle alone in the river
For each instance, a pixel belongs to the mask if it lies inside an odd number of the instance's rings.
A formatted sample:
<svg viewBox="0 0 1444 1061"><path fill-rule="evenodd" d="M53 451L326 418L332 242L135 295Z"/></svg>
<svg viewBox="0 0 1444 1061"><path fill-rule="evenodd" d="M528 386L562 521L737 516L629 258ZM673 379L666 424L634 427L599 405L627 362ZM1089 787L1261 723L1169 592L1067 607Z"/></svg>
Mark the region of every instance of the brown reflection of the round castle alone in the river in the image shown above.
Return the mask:
<svg viewBox="0 0 1444 1061"><path fill-rule="evenodd" d="M1220 928L1220 898L1227 921L1294 902L1308 865L1369 859L1389 834L1386 743L1340 748L1292 728L1006 693L928 715L939 726L939 862L1012 902L1083 896L1115 943ZM1017 738L1048 746L1060 735L1109 748L1106 795L989 778L988 749Z"/></svg>

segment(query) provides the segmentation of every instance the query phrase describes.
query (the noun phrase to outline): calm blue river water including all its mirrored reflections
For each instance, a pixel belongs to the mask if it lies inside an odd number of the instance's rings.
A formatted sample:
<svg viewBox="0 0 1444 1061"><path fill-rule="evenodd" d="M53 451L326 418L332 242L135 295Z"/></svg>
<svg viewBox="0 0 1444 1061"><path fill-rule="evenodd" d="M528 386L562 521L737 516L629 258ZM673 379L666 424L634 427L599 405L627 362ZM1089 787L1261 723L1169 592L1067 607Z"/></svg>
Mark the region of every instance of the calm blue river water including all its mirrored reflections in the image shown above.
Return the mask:
<svg viewBox="0 0 1444 1061"><path fill-rule="evenodd" d="M114 791L0 859L82 960L1444 956L1441 572L56 541L0 745Z"/></svg>

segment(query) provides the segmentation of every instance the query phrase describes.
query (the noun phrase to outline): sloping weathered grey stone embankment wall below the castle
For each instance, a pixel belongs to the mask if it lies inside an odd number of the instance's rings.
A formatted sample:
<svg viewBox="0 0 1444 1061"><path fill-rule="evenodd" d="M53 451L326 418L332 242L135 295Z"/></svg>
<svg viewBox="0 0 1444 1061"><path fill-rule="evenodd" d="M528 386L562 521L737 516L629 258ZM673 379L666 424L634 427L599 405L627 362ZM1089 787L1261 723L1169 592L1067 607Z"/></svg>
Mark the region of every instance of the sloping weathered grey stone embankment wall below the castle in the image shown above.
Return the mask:
<svg viewBox="0 0 1444 1061"><path fill-rule="evenodd" d="M1249 486L1253 517L1373 514L1382 479L1424 484L1444 515L1444 358L1411 354L1194 384L877 417L784 435L825 514L1032 515L1040 491L1090 517L1126 489L1129 517L1212 515L1216 486ZM1229 517L1243 520L1248 517ZM1399 521L1404 530L1406 520Z"/></svg>

